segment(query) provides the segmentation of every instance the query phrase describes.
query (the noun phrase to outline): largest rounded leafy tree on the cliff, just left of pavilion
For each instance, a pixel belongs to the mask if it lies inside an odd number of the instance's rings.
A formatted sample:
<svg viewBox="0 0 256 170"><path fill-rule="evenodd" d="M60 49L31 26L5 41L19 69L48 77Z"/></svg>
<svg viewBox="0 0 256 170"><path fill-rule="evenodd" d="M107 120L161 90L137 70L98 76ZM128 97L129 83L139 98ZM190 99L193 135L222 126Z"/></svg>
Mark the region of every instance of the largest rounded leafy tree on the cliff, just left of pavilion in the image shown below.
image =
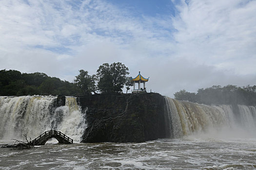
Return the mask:
<svg viewBox="0 0 256 170"><path fill-rule="evenodd" d="M104 63L98 67L98 89L102 93L120 93L127 80L126 75L129 74L128 68L124 64Z"/></svg>

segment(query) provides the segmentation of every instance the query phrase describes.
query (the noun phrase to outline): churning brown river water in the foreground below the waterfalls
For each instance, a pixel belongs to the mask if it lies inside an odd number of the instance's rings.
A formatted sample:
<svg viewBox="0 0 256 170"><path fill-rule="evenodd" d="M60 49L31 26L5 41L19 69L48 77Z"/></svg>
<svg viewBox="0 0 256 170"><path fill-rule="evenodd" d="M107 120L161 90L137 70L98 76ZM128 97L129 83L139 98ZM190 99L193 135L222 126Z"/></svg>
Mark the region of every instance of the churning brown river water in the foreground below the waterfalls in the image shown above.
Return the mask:
<svg viewBox="0 0 256 170"><path fill-rule="evenodd" d="M56 140L57 143L57 140ZM256 138L158 139L144 143L0 148L1 170L255 170Z"/></svg>

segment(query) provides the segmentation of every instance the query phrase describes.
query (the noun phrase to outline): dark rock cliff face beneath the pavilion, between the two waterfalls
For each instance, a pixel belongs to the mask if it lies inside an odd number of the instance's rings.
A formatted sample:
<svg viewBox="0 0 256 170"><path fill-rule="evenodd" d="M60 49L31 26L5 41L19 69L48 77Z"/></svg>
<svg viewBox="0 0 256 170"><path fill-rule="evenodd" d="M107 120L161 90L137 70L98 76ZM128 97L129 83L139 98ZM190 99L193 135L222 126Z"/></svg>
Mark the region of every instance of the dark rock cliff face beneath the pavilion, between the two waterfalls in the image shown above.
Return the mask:
<svg viewBox="0 0 256 170"><path fill-rule="evenodd" d="M166 137L158 93L96 94L77 98L88 128L82 142L143 142Z"/></svg>

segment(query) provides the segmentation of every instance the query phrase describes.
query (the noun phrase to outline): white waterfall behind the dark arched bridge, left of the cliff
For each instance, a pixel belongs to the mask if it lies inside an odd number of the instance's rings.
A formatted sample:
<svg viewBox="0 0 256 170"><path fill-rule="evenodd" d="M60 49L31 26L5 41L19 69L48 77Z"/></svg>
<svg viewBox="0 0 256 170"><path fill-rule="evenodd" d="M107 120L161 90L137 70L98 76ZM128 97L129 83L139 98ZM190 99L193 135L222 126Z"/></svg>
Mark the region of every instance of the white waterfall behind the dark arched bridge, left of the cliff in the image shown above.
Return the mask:
<svg viewBox="0 0 256 170"><path fill-rule="evenodd" d="M66 97L64 106L56 103L56 96L1 96L0 140L22 139L24 134L33 139L52 129L80 142L86 124L76 98Z"/></svg>

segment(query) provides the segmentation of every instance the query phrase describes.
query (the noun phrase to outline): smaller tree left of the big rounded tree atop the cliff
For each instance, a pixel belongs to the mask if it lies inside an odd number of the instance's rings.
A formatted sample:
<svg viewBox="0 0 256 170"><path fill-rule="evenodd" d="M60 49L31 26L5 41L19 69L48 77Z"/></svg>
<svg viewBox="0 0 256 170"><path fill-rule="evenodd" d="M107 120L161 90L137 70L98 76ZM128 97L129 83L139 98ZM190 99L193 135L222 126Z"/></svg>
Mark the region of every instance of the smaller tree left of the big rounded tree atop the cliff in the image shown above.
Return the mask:
<svg viewBox="0 0 256 170"><path fill-rule="evenodd" d="M88 71L80 69L79 75L76 76L74 82L84 93L95 91L95 76L90 76Z"/></svg>

